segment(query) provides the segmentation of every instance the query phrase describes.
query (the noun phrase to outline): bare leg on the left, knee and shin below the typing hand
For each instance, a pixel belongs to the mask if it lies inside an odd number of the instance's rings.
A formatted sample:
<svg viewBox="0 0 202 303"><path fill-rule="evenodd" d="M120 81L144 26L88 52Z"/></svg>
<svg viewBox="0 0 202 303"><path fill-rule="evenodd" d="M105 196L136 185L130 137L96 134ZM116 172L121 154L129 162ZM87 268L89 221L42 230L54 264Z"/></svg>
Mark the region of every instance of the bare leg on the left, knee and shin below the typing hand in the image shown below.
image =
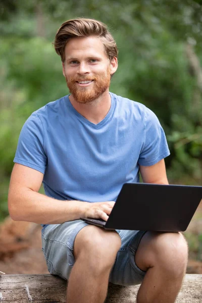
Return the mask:
<svg viewBox="0 0 202 303"><path fill-rule="evenodd" d="M68 303L104 303L109 275L121 238L114 231L84 227L74 243L75 264L67 288Z"/></svg>

